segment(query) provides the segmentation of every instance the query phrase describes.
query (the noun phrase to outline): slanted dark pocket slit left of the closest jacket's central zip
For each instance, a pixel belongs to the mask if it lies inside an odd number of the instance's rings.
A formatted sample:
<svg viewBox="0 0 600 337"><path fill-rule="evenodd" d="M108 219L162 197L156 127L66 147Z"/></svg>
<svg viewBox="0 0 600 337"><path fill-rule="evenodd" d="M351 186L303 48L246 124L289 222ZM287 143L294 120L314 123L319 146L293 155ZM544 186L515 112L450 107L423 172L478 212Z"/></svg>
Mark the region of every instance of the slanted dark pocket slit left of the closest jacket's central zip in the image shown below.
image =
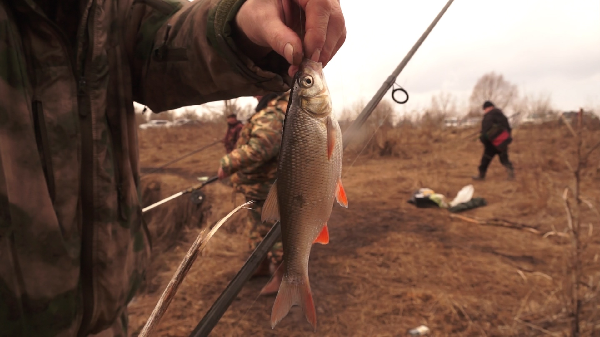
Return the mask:
<svg viewBox="0 0 600 337"><path fill-rule="evenodd" d="M50 153L50 143L48 142L48 131L46 130L46 119L44 118L44 106L40 100L34 99L32 102L35 142L40 152L41 165L46 177L46 185L50 194L50 200L55 200L55 181L54 170L52 169L52 154Z"/></svg>

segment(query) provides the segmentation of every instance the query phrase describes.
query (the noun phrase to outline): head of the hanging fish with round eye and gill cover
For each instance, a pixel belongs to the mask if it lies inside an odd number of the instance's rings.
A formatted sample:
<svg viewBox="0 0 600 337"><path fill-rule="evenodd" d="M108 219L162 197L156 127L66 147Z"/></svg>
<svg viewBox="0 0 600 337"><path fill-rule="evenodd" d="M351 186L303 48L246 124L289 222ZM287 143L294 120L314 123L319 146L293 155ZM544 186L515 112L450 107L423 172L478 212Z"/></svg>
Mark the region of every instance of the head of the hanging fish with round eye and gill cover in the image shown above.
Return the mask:
<svg viewBox="0 0 600 337"><path fill-rule="evenodd" d="M325 76L323 76L323 64L304 59L296 76L298 82L294 90L298 91L302 110L319 119L331 115L331 98L329 97L329 88Z"/></svg>

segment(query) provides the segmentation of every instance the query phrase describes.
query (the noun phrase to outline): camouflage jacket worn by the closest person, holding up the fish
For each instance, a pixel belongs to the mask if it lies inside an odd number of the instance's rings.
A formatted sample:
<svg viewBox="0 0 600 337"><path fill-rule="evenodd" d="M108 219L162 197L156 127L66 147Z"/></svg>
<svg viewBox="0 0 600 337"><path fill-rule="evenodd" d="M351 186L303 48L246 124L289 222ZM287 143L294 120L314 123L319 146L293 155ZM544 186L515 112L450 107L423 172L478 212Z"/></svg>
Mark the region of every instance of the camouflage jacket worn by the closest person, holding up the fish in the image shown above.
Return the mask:
<svg viewBox="0 0 600 337"><path fill-rule="evenodd" d="M0 336L102 332L134 296L150 245L133 100L289 89L283 58L236 49L243 0L74 0L59 28L39 4L61 2L0 1Z"/></svg>

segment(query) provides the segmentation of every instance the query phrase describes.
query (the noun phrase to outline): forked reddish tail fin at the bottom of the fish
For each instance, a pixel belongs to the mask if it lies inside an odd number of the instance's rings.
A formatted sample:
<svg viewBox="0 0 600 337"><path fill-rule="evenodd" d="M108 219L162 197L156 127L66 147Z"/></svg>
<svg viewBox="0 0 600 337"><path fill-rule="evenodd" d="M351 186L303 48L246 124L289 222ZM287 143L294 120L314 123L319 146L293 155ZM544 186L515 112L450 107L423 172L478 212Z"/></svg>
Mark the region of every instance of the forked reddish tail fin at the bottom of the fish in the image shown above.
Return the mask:
<svg viewBox="0 0 600 337"><path fill-rule="evenodd" d="M301 284L292 284L287 282L284 277L279 287L279 292L275 298L275 304L271 311L271 329L275 329L294 305L299 305L304 311L304 316L308 323L317 331L317 313L314 311L313 294L310 293L310 284L308 275L305 276Z"/></svg>

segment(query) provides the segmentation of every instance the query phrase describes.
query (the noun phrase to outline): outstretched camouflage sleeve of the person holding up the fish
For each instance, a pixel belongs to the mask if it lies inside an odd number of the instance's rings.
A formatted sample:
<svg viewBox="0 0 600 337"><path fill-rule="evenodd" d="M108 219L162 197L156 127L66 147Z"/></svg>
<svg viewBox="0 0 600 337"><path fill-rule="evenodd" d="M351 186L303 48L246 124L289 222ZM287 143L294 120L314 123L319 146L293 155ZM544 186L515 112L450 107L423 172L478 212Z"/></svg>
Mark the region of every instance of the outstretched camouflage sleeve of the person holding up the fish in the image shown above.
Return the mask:
<svg viewBox="0 0 600 337"><path fill-rule="evenodd" d="M133 0L123 16L134 100L152 111L285 91L289 64L275 52L239 52L232 23L244 0Z"/></svg>

